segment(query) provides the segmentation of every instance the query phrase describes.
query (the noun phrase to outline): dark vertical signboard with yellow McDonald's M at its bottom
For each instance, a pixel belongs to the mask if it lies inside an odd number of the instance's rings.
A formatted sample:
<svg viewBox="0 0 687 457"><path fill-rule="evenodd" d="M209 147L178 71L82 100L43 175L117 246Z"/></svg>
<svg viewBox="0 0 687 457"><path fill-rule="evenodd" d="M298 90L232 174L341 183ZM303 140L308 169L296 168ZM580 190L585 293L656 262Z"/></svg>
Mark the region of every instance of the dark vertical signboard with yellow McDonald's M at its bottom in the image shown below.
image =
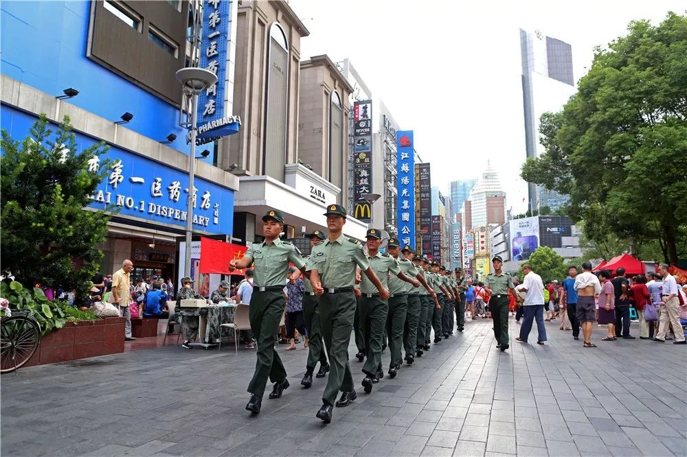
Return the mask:
<svg viewBox="0 0 687 457"><path fill-rule="evenodd" d="M353 104L353 163L353 217L369 223L372 207L363 196L372 193L372 100Z"/></svg>

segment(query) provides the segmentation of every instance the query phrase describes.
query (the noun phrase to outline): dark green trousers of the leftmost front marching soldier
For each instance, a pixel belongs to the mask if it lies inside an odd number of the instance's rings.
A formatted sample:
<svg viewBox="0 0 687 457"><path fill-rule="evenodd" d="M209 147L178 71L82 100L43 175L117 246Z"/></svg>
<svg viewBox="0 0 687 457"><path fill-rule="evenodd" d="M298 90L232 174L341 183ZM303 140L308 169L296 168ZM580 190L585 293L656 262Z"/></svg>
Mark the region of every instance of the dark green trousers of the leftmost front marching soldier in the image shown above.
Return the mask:
<svg viewBox="0 0 687 457"><path fill-rule="evenodd" d="M256 371L248 384L248 392L262 396L264 386L269 377L271 382L282 382L286 379L286 370L277 351L274 350L274 340L279 329L280 320L284 314L284 293L260 292L253 290L248 318L251 330L258 342L258 361Z"/></svg>

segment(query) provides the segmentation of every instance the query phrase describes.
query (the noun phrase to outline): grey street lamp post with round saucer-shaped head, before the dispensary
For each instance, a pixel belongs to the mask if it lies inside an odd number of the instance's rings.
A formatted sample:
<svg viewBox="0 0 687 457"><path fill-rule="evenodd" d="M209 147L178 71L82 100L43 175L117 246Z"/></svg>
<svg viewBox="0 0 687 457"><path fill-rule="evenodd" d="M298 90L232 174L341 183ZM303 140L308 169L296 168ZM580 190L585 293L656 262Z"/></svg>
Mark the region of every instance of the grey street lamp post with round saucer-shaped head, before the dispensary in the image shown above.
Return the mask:
<svg viewBox="0 0 687 457"><path fill-rule="evenodd" d="M177 71L177 80L181 82L183 94L191 99L191 153L188 157L188 205L186 209L186 250L184 253L183 275L191 276L191 235L193 233L193 181L196 174L196 115L198 113L198 95L217 82L217 76L202 68L189 67Z"/></svg>

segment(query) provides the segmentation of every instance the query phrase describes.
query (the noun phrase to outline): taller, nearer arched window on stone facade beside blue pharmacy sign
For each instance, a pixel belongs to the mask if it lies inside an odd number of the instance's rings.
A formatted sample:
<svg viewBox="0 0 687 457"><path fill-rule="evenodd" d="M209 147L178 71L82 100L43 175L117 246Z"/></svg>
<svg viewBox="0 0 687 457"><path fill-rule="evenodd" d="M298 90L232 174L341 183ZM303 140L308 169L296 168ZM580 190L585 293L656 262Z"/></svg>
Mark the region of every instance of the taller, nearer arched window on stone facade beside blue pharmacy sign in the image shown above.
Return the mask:
<svg viewBox="0 0 687 457"><path fill-rule="evenodd" d="M286 118L289 108L289 42L278 23L269 28L267 106L265 108L264 174L284 181Z"/></svg>

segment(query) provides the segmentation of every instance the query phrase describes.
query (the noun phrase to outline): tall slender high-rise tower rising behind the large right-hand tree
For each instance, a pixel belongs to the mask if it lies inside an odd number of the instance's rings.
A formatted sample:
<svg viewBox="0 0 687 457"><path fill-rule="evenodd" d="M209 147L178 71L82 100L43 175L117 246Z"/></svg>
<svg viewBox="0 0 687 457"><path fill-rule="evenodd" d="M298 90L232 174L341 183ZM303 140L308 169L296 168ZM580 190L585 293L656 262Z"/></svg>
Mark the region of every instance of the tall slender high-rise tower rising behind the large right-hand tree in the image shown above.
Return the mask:
<svg viewBox="0 0 687 457"><path fill-rule="evenodd" d="M525 121L526 157L538 157L544 152L539 143L539 118L548 111L555 113L575 92L572 73L572 47L561 40L520 30L522 57L522 97ZM524 160L524 158L523 158ZM528 184L528 207L558 208L565 197Z"/></svg>

